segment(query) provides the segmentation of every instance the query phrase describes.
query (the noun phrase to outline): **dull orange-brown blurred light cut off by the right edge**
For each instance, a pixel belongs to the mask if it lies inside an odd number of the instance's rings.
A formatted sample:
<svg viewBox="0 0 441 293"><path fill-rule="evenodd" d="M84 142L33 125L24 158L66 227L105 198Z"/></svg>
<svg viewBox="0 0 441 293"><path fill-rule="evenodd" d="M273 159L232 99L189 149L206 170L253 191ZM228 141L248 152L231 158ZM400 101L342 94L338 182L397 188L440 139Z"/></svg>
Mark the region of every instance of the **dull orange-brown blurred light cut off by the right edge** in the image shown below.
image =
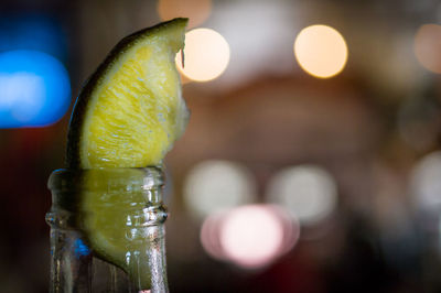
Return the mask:
<svg viewBox="0 0 441 293"><path fill-rule="evenodd" d="M415 36L415 55L427 69L441 74L441 25L421 25Z"/></svg>

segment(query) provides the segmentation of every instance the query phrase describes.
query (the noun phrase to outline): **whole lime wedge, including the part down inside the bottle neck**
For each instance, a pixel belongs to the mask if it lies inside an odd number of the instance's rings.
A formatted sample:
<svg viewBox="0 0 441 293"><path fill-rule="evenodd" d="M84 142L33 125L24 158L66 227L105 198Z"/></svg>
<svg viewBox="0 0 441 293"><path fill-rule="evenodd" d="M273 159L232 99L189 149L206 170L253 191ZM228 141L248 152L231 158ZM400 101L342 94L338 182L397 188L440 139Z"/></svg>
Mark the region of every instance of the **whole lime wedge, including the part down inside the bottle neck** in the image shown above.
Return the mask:
<svg viewBox="0 0 441 293"><path fill-rule="evenodd" d="M76 196L79 225L96 254L131 276L148 260L137 259L131 268L127 258L146 250L149 240L138 235L142 229L128 227L128 219L135 220L131 213L148 208L149 200L144 189L120 189L115 182L122 180L126 188L143 178L135 167L160 166L185 129L189 111L174 59L184 46L186 23L174 19L122 39L86 83L71 118L67 166L86 170Z"/></svg>

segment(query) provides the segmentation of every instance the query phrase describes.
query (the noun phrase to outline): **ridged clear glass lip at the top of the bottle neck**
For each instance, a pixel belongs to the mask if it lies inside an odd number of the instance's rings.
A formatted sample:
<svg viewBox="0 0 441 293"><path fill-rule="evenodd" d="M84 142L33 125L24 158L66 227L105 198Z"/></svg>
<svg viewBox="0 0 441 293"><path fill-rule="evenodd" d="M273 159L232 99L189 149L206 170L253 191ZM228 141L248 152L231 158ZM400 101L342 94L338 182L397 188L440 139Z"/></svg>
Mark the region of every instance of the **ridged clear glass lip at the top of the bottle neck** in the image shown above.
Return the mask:
<svg viewBox="0 0 441 293"><path fill-rule="evenodd" d="M52 207L46 221L75 229L82 219L104 214L109 223L114 215L122 215L131 228L160 225L168 217L163 185L163 171L158 167L56 170L47 183Z"/></svg>

